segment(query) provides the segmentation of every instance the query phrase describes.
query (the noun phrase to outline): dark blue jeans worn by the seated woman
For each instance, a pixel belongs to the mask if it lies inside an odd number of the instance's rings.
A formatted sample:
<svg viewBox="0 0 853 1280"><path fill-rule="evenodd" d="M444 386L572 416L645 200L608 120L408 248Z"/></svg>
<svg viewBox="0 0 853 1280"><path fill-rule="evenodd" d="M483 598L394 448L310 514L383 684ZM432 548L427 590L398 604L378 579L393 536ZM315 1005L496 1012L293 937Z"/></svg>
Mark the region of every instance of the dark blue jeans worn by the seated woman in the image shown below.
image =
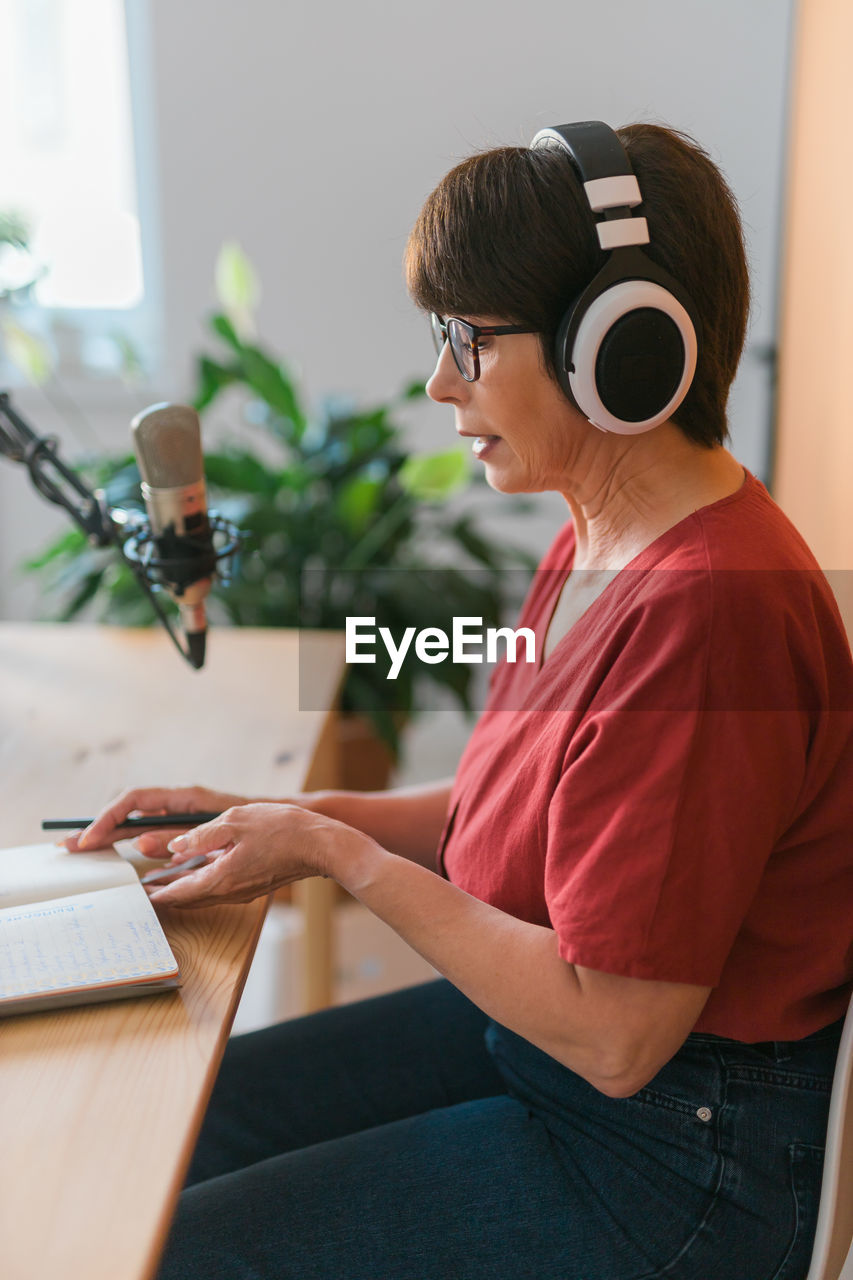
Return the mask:
<svg viewBox="0 0 853 1280"><path fill-rule="evenodd" d="M840 1023L607 1098L447 982L231 1041L160 1280L803 1280Z"/></svg>

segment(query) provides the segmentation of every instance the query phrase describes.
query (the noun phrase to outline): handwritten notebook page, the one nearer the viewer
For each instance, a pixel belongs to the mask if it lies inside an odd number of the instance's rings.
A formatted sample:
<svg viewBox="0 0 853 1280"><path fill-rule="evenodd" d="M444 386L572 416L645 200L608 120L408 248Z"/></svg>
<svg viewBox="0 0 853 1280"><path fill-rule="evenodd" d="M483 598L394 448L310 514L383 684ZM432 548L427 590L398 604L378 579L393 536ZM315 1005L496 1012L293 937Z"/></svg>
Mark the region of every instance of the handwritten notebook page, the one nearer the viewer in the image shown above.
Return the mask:
<svg viewBox="0 0 853 1280"><path fill-rule="evenodd" d="M0 910L0 1010L24 996L175 975L138 884Z"/></svg>

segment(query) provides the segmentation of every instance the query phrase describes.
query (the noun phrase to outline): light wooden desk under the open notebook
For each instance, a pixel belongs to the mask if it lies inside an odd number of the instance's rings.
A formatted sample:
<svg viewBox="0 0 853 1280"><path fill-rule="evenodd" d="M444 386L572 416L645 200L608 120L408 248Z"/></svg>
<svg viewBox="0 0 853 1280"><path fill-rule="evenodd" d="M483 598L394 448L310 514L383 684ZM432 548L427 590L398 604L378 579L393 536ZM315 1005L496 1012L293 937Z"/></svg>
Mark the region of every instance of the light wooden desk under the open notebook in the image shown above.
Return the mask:
<svg viewBox="0 0 853 1280"><path fill-rule="evenodd" d="M297 635L223 628L209 649L192 672L156 631L0 625L0 846L133 783L327 785ZM304 680L306 660L330 705L342 637L302 632ZM4 1280L152 1275L265 908L164 910L177 992L0 1020Z"/></svg>

